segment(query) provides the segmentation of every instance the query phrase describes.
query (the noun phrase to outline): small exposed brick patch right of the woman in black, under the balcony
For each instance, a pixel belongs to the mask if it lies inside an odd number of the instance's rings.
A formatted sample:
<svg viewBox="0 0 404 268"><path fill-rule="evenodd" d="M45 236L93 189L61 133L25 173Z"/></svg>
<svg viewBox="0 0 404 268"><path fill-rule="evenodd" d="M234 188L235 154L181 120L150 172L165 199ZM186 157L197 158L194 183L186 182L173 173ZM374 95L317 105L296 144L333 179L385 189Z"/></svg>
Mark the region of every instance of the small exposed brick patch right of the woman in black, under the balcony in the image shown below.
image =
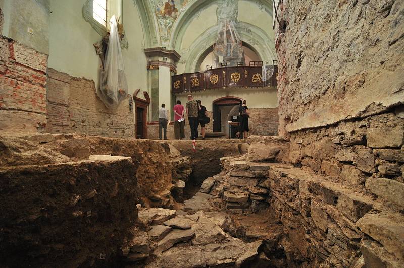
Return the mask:
<svg viewBox="0 0 404 268"><path fill-rule="evenodd" d="M278 108L251 108L249 135L278 135Z"/></svg>

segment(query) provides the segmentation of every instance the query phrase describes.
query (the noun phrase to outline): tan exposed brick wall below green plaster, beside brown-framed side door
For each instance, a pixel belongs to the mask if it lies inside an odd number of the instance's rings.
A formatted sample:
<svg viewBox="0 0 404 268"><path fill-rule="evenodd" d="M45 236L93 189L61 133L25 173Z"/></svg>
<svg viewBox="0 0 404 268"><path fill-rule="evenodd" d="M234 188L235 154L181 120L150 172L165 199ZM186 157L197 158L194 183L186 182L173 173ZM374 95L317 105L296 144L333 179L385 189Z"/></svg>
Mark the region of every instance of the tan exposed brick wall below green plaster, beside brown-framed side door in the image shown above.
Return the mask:
<svg viewBox="0 0 404 268"><path fill-rule="evenodd" d="M71 77L52 68L47 72L47 132L134 137L133 112L127 100L117 110L109 110L98 99L94 81Z"/></svg>

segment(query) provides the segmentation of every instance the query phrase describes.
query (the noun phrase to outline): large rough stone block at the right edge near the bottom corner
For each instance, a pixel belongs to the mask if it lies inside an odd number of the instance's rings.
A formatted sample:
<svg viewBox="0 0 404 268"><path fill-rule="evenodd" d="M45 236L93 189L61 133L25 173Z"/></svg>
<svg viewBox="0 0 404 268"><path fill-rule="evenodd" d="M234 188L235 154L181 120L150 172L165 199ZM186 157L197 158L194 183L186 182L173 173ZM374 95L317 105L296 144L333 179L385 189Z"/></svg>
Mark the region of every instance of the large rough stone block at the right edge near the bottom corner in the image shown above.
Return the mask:
<svg viewBox="0 0 404 268"><path fill-rule="evenodd" d="M398 218L402 216L396 215ZM396 258L404 259L404 226L397 223L394 215L368 214L360 219L356 225L362 232L369 235Z"/></svg>

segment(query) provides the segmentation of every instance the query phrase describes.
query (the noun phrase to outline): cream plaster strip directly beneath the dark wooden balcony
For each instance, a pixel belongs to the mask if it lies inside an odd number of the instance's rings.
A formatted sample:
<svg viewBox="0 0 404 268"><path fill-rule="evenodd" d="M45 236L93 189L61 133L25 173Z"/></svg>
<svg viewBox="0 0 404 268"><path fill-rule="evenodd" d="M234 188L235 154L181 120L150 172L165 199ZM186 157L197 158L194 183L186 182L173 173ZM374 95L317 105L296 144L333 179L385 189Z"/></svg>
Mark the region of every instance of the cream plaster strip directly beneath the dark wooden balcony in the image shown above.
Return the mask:
<svg viewBox="0 0 404 268"><path fill-rule="evenodd" d="M246 100L248 108L275 108L278 107L276 94L276 89L229 89L195 92L192 93L192 96L195 100L201 100L202 105L208 111L212 111L213 101L226 96L234 96ZM188 101L187 94L177 95L176 100L180 100L185 105Z"/></svg>

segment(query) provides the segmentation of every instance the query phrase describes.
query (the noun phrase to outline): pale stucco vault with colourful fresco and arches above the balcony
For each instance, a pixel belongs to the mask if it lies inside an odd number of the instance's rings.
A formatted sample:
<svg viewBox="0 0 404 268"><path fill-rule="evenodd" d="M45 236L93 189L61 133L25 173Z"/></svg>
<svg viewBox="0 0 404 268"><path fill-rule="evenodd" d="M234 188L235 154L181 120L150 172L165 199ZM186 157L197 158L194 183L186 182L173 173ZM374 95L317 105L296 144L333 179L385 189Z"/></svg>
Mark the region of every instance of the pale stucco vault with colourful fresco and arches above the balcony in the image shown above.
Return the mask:
<svg viewBox="0 0 404 268"><path fill-rule="evenodd" d="M233 18L236 30L243 43L248 44L263 61L276 59L274 36L267 29L260 28L253 21L240 21L239 6L254 5L255 10L268 16L268 27L272 22L272 0L133 0L143 28L144 48L165 47L181 55L179 64L185 64L186 72L194 72L205 51L215 43L218 26L201 27L199 36L187 40L187 29L201 16L209 16L207 10L216 6L215 22L224 16ZM222 6L223 4L226 4ZM257 9L258 8L258 9ZM210 11L211 12L211 11ZM263 15L266 14L266 15ZM254 17L254 16L252 16ZM264 27L264 26L262 26ZM206 53L205 53L206 55Z"/></svg>

